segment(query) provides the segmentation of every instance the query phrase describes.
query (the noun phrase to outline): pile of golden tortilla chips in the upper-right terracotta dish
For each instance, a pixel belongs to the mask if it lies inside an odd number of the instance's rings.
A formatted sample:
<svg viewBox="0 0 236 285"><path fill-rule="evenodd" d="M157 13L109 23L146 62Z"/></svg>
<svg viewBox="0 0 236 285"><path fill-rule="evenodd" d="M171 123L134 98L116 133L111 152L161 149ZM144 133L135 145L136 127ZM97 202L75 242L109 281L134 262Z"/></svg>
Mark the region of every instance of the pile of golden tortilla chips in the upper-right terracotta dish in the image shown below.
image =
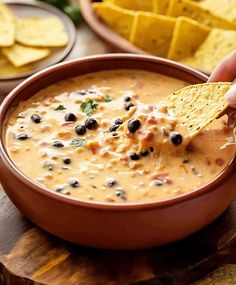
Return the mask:
<svg viewBox="0 0 236 285"><path fill-rule="evenodd" d="M236 49L236 0L104 0L92 6L133 45L209 73Z"/></svg>

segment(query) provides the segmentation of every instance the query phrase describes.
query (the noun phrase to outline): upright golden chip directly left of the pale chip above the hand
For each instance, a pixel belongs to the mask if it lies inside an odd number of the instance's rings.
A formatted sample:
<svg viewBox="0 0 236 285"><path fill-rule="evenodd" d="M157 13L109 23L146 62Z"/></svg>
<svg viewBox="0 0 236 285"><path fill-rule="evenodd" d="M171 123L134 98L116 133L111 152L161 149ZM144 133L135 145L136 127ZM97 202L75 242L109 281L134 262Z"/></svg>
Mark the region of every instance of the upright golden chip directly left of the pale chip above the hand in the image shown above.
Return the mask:
<svg viewBox="0 0 236 285"><path fill-rule="evenodd" d="M210 28L207 26L186 17L179 17L174 28L168 58L180 60L193 56L209 32Z"/></svg>

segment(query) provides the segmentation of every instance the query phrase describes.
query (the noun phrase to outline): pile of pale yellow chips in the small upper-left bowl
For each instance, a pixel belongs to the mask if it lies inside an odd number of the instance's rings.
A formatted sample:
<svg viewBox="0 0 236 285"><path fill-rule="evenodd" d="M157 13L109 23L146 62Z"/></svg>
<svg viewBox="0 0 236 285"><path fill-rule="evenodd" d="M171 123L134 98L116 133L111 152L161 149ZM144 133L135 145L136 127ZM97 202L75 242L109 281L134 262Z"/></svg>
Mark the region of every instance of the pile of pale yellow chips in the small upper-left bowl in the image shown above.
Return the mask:
<svg viewBox="0 0 236 285"><path fill-rule="evenodd" d="M51 48L68 43L63 24L56 17L17 18L0 2L0 76L32 70L30 63L46 58Z"/></svg>

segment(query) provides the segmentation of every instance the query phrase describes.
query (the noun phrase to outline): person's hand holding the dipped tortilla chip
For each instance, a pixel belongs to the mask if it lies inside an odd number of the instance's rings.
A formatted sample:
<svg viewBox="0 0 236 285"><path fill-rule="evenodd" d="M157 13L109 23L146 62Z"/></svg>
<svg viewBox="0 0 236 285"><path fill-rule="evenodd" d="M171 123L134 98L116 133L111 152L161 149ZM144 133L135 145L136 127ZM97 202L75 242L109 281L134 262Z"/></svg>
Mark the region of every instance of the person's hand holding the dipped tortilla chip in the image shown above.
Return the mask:
<svg viewBox="0 0 236 285"><path fill-rule="evenodd" d="M236 83L236 50L228 55L212 72L208 82L233 82ZM225 99L230 105L228 110L228 125L236 126L236 84L225 94Z"/></svg>

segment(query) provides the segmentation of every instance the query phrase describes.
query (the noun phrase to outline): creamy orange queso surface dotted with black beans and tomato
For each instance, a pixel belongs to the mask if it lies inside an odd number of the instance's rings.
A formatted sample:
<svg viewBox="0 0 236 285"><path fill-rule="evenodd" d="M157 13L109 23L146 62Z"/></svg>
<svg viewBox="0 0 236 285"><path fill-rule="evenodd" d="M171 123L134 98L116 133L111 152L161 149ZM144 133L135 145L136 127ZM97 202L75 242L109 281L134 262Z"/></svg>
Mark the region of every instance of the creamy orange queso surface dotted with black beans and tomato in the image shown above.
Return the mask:
<svg viewBox="0 0 236 285"><path fill-rule="evenodd" d="M198 188L235 147L225 118L186 144L164 96L188 83L137 70L91 73L45 88L11 112L16 166L51 191L105 202L156 201Z"/></svg>

